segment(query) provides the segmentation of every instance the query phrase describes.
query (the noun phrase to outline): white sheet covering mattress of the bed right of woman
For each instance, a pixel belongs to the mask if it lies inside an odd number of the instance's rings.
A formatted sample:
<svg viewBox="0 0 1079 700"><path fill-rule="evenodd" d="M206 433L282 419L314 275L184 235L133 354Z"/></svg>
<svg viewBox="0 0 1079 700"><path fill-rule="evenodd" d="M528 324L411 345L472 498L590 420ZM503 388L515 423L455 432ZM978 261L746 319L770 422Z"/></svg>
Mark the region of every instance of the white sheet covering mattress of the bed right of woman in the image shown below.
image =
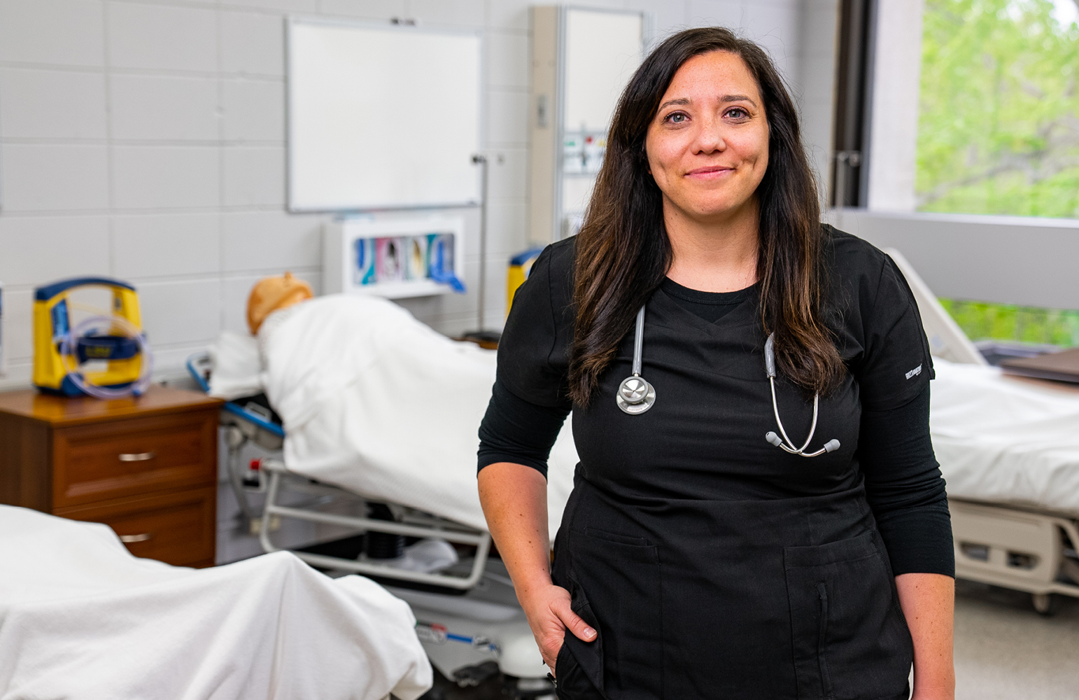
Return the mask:
<svg viewBox="0 0 1079 700"><path fill-rule="evenodd" d="M950 496L1079 513L1079 395L933 358L933 450Z"/></svg>

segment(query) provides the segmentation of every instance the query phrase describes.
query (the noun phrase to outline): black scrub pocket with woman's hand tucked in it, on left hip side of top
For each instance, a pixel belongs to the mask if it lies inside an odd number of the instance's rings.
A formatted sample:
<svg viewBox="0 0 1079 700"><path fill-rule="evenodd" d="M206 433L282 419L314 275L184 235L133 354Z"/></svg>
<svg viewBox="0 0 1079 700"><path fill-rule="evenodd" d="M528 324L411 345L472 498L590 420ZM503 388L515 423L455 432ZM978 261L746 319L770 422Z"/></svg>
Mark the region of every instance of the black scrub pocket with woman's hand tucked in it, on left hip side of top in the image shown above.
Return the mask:
<svg viewBox="0 0 1079 700"><path fill-rule="evenodd" d="M595 527L571 530L569 535L573 609L598 632L592 644L568 635L571 651L596 687L612 700L663 697L663 606L656 547L643 537ZM595 670L589 668L596 661Z"/></svg>

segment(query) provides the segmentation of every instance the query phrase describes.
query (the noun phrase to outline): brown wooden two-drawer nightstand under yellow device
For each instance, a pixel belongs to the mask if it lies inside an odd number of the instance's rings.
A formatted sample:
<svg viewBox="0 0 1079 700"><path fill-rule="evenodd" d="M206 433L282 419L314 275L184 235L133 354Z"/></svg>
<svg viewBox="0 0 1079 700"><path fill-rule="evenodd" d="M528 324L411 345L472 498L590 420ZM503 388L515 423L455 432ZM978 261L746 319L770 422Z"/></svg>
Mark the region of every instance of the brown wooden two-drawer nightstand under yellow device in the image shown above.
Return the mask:
<svg viewBox="0 0 1079 700"><path fill-rule="evenodd" d="M222 401L0 394L0 503L111 526L136 557L213 566Z"/></svg>

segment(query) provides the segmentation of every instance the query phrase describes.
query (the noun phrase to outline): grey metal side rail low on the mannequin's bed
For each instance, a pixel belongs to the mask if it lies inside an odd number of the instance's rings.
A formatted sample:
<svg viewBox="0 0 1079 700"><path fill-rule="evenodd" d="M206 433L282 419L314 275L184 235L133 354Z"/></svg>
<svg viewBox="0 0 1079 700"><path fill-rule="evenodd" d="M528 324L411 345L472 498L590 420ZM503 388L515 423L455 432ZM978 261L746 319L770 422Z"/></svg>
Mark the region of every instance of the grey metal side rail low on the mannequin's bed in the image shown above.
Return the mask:
<svg viewBox="0 0 1079 700"><path fill-rule="evenodd" d="M355 527L363 532L388 533L392 535L406 535L410 537L440 537L450 543L461 545L472 545L476 547L476 557L473 561L472 569L467 577L453 576L451 574L424 574L421 572L410 572L385 564L375 564L371 561L342 559L340 557L329 557L327 554L315 554L312 552L288 550L314 566L345 571L355 574L366 574L368 576L379 576L412 584L427 584L429 586L441 586L456 590L468 590L475 587L483 576L483 567L487 564L488 555L491 552L491 535L479 530L466 527L459 523L435 518L432 524L410 524L392 522L385 520L373 520L357 516L341 516L337 513L319 512L303 508L292 508L290 506L277 505L277 495L282 480L291 472L285 465L276 459L263 459L262 468L269 473L270 483L267 488L265 508L262 511L262 520L259 529L259 541L262 549L268 552L279 551L270 538L270 524L273 517L293 518L309 522L320 522L333 525ZM298 475L292 475L299 477Z"/></svg>

